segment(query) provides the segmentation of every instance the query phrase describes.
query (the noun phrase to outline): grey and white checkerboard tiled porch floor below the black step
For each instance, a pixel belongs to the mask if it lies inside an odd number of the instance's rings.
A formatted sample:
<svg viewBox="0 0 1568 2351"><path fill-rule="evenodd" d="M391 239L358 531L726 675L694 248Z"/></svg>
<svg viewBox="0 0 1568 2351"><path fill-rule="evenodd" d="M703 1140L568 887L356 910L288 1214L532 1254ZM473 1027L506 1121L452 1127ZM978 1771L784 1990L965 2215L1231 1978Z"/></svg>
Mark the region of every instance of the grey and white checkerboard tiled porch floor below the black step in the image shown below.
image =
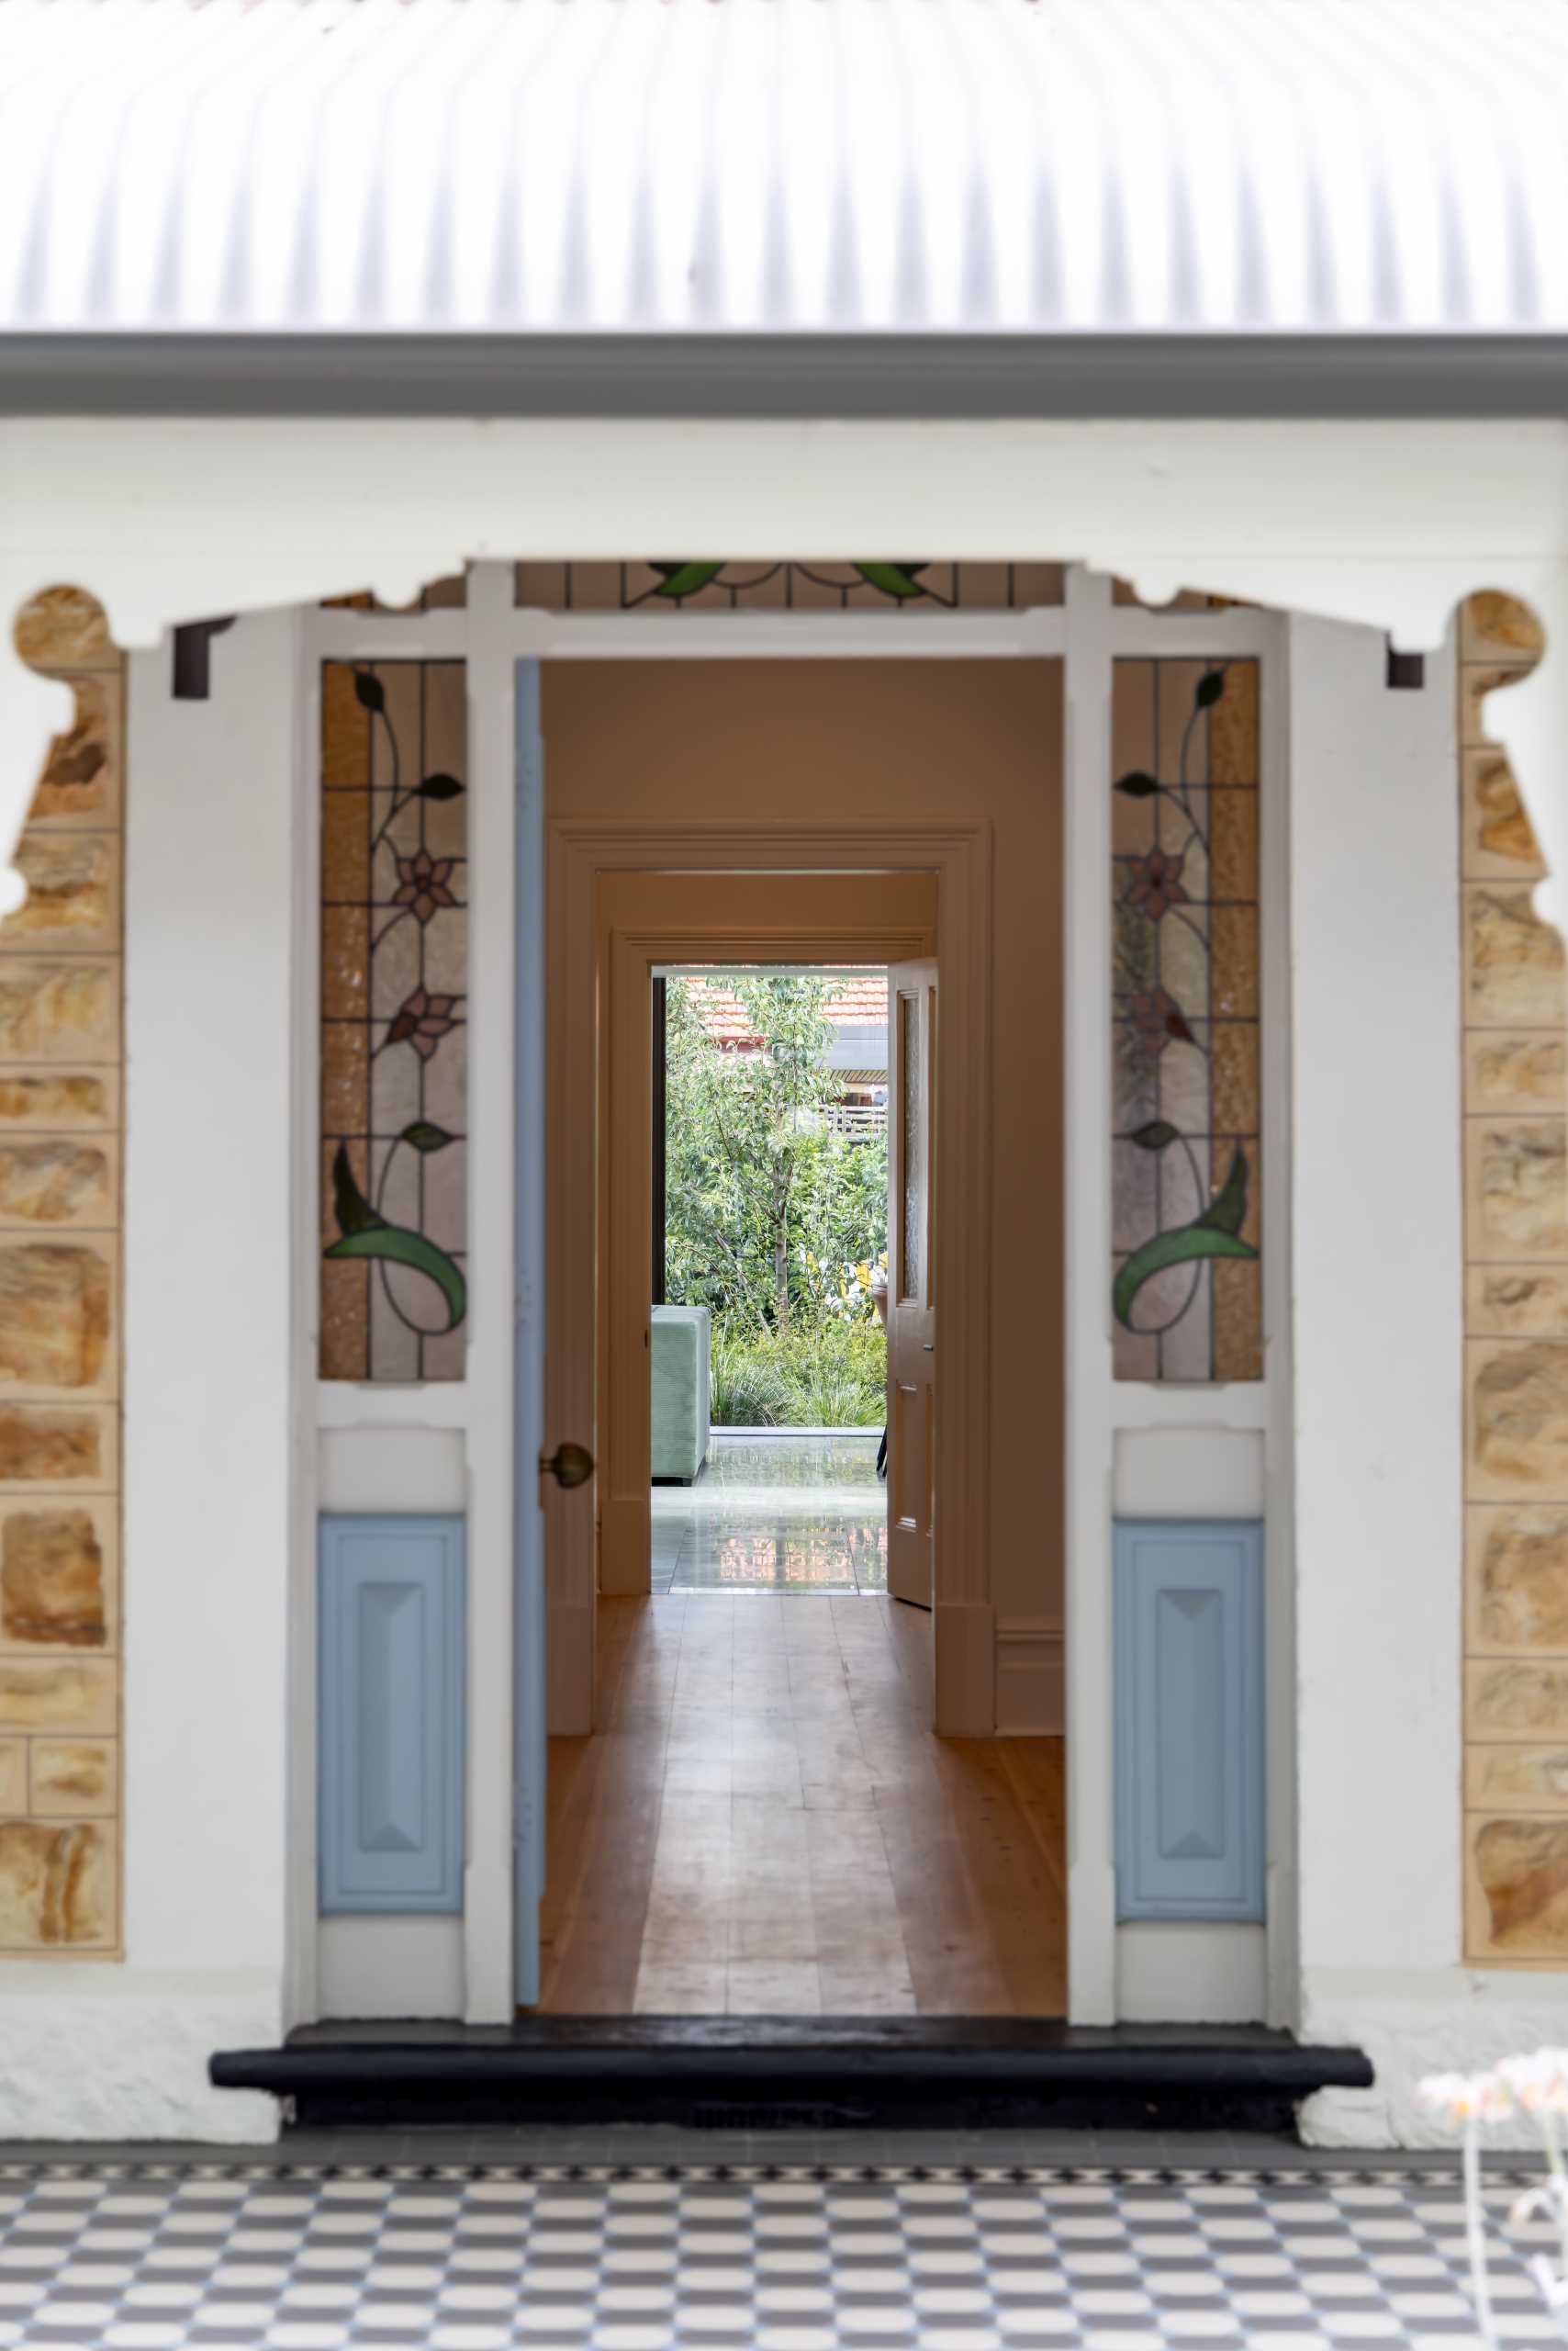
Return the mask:
<svg viewBox="0 0 1568 2351"><path fill-rule="evenodd" d="M1462 2280L1448 2170L0 2165L26 2351L1455 2346Z"/></svg>

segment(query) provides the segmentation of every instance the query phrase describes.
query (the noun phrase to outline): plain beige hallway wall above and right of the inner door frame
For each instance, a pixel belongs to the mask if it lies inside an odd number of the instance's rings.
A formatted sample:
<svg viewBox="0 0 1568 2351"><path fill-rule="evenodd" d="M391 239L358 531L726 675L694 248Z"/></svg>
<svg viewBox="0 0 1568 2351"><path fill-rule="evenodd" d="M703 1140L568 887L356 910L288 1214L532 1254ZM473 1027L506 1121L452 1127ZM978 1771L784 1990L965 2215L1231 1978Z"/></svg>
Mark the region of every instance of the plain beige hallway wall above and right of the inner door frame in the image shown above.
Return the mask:
<svg viewBox="0 0 1568 2351"><path fill-rule="evenodd" d="M992 1601L1060 1617L1060 663L548 663L543 734L552 820L990 818Z"/></svg>

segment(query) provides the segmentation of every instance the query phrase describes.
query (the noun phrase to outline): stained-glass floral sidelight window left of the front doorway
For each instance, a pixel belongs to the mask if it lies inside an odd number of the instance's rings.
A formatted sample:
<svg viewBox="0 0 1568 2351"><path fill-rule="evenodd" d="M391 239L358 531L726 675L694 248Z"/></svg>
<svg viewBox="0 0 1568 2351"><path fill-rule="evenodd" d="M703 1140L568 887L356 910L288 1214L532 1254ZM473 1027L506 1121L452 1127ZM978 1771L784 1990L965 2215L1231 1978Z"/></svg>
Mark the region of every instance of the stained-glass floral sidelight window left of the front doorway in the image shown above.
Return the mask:
<svg viewBox="0 0 1568 2351"><path fill-rule="evenodd" d="M468 818L458 661L322 668L324 1380L458 1380Z"/></svg>

